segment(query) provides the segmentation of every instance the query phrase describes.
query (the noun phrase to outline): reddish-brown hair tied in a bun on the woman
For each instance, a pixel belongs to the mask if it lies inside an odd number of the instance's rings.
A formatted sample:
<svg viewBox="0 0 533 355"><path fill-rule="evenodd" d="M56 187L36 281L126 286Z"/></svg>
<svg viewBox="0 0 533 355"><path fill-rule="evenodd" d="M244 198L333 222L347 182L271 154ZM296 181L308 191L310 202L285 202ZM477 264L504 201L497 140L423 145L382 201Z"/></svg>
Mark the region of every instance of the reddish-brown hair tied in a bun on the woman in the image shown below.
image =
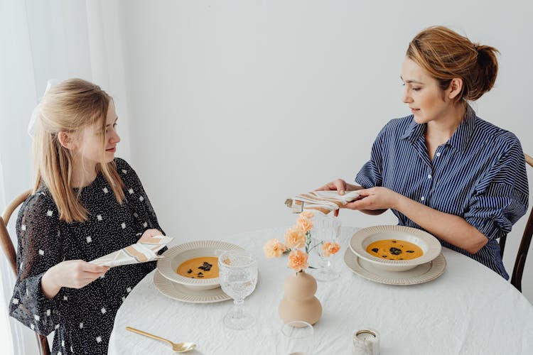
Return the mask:
<svg viewBox="0 0 533 355"><path fill-rule="evenodd" d="M432 26L414 36L406 55L427 70L443 90L454 77L460 77L463 89L457 99L475 101L494 86L496 53L496 48L472 43L449 28Z"/></svg>

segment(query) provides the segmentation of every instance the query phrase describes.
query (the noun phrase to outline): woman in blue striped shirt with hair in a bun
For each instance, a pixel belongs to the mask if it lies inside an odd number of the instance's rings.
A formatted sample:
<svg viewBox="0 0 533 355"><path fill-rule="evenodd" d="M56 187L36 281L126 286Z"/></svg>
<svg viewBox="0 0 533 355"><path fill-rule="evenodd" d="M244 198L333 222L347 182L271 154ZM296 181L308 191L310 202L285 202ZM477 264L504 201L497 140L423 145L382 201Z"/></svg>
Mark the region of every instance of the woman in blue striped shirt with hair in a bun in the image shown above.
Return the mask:
<svg viewBox="0 0 533 355"><path fill-rule="evenodd" d="M508 279L497 239L527 210L524 154L513 133L468 104L492 88L496 53L442 26L421 31L402 66L411 115L379 132L359 185L338 179L319 190L360 190L362 198L345 208L392 209L400 225L429 231Z"/></svg>

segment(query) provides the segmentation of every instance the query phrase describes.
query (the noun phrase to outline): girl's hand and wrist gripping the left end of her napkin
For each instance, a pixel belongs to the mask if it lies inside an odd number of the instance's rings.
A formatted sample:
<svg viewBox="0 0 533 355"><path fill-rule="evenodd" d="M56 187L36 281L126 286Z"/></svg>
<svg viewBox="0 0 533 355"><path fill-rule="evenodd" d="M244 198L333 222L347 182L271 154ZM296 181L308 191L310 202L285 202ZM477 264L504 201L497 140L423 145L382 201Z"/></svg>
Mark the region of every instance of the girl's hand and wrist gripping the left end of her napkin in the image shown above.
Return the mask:
<svg viewBox="0 0 533 355"><path fill-rule="evenodd" d="M45 297L52 298L65 288L82 288L107 273L109 266L99 266L82 260L62 261L48 269L41 278Z"/></svg>

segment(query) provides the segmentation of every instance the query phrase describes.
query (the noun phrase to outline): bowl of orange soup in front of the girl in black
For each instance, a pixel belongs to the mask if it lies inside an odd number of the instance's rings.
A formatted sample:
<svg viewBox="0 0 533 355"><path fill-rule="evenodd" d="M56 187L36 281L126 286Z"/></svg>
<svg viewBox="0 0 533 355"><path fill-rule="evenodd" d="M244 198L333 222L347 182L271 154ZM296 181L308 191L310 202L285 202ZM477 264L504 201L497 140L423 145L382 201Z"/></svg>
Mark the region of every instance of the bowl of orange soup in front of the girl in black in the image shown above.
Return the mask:
<svg viewBox="0 0 533 355"><path fill-rule="evenodd" d="M168 280L195 290L220 287L218 256L240 246L225 241L190 241L166 250L157 270Z"/></svg>

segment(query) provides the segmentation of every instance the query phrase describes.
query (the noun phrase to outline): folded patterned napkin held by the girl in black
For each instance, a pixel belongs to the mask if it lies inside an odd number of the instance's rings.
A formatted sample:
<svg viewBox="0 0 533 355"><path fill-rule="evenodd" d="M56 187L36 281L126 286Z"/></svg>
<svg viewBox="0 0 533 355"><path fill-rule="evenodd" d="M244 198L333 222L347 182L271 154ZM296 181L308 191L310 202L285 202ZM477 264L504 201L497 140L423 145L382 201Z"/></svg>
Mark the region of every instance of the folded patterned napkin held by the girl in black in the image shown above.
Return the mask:
<svg viewBox="0 0 533 355"><path fill-rule="evenodd" d="M172 239L173 237L171 236L153 236L148 241L131 244L131 246L126 246L126 248L101 256L90 261L90 263L112 268L114 266L154 261L163 258L158 256L157 252L170 243Z"/></svg>

